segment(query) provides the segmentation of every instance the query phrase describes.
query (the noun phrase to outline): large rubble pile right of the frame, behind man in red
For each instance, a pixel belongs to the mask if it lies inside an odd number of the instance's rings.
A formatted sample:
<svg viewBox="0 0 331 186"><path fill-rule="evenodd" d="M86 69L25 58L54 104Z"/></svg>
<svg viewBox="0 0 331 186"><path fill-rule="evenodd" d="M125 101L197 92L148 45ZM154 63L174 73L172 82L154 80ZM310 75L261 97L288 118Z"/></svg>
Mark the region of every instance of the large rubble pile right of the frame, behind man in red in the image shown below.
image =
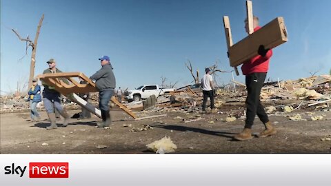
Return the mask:
<svg viewBox="0 0 331 186"><path fill-rule="evenodd" d="M331 110L329 107L331 103L330 81L331 76L323 75L298 79L297 81L265 83L261 92L261 101L265 105L265 111L270 115L284 116L293 121L322 119L323 116L312 114L301 117L297 113L292 114L292 112L300 109ZM244 107L247 97L245 85L236 81L234 83L237 85L236 90L230 90L226 87L217 89L214 95L215 109L207 108L209 113L225 114L227 116L224 118L226 122L245 119ZM181 89L159 96L156 105L145 110L143 110L142 101L128 103L127 106L130 109L139 110L141 111L140 114L145 115L157 112L178 112L192 115L203 113L201 112L202 101L203 96L200 89L194 91ZM207 105L209 104L210 101L208 100ZM183 121L185 120L183 118Z"/></svg>

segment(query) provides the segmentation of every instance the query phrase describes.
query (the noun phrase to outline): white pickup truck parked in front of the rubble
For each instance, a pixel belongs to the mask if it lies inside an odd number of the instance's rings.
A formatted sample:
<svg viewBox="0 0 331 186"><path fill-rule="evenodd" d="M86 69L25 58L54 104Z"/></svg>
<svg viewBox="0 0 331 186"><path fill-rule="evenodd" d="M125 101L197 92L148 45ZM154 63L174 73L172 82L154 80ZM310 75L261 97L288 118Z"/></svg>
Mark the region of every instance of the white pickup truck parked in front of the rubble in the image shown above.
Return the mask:
<svg viewBox="0 0 331 186"><path fill-rule="evenodd" d="M159 88L159 85L142 85L135 90L129 90L126 99L128 101L139 101L140 99L148 99L149 96L159 95L174 91L173 88Z"/></svg>

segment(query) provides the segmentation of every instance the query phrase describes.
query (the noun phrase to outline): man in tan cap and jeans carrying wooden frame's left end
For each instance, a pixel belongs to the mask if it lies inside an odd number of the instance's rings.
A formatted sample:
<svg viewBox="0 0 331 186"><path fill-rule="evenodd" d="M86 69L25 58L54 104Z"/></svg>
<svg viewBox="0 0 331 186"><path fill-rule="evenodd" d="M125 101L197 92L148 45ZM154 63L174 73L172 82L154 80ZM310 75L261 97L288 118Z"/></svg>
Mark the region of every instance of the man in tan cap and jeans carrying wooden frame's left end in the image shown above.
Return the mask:
<svg viewBox="0 0 331 186"><path fill-rule="evenodd" d="M56 68L57 63L54 59L50 59L46 63L48 63L48 69L44 70L43 74L53 74L61 72L61 70ZM64 79L63 81L64 83L69 83L66 79ZM43 87L43 105L45 106L48 118L50 118L50 126L46 127L46 129L52 130L57 128L57 121L55 118L54 109L56 109L59 114L63 116L64 121L62 126L66 127L68 125L70 117L61 105L61 94L57 92L54 87L47 85L45 82L43 82Z"/></svg>

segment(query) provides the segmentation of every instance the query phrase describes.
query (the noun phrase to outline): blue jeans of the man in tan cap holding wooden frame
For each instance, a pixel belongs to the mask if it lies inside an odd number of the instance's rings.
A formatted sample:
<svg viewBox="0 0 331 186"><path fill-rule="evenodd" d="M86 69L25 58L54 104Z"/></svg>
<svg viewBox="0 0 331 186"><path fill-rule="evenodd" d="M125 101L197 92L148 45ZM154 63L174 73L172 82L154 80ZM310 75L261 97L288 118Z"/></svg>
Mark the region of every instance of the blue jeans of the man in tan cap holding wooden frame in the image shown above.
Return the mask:
<svg viewBox="0 0 331 186"><path fill-rule="evenodd" d="M63 111L60 96L58 92L43 92L43 106L47 113L54 113L54 107L59 112Z"/></svg>

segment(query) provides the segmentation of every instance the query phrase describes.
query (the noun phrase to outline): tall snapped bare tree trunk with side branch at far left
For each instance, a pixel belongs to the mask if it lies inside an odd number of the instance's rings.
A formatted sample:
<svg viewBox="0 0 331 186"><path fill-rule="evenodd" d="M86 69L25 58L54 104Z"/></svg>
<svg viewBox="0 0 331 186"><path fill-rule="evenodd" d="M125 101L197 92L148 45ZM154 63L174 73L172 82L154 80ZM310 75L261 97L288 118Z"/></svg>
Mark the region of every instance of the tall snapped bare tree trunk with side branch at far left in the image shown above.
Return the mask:
<svg viewBox="0 0 331 186"><path fill-rule="evenodd" d="M30 88L32 86L32 79L34 77L34 66L35 66L35 62L36 62L37 42L38 42L39 32L40 32L40 28L41 28L41 23L43 23L43 15L41 16L41 19L39 21L39 24L38 24L38 27L37 27L36 37L34 38L34 42L32 42L30 40L29 36L26 39L21 38L19 33L16 30L12 29L12 32L14 32L17 35L17 37L19 37L19 40L26 41L27 48L28 48L28 46L32 47L31 64L30 64L30 77L29 77L28 88Z"/></svg>

